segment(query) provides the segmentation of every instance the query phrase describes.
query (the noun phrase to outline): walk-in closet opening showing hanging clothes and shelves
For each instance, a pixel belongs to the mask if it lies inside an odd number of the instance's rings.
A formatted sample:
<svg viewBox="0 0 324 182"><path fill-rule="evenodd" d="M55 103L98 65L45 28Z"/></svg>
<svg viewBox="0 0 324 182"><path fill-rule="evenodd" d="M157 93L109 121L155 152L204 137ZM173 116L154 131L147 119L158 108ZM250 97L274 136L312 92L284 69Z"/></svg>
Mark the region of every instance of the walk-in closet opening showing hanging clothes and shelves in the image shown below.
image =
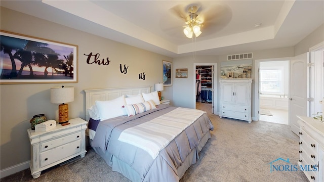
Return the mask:
<svg viewBox="0 0 324 182"><path fill-rule="evenodd" d="M206 112L215 111L215 64L195 65L195 106Z"/></svg>

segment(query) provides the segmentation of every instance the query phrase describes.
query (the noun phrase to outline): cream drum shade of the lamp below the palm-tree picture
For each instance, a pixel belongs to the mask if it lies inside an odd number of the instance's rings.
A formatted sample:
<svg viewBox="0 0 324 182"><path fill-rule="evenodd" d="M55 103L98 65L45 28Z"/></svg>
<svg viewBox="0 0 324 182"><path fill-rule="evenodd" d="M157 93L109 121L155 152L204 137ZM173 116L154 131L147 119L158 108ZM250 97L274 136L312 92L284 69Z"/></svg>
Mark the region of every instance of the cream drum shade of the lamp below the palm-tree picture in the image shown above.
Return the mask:
<svg viewBox="0 0 324 182"><path fill-rule="evenodd" d="M62 104L74 101L74 87L62 86L51 88L51 103Z"/></svg>

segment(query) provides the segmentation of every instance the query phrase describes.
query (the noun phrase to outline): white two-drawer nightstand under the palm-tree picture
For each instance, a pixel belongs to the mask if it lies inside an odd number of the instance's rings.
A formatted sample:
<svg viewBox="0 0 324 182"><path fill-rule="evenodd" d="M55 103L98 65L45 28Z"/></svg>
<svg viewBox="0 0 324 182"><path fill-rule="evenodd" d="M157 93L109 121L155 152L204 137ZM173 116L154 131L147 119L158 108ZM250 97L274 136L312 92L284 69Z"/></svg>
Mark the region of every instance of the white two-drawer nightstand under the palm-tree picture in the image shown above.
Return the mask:
<svg viewBox="0 0 324 182"><path fill-rule="evenodd" d="M33 178L49 167L80 155L86 155L87 121L81 118L69 119L68 125L56 124L54 129L35 132L28 129L30 141L30 171Z"/></svg>

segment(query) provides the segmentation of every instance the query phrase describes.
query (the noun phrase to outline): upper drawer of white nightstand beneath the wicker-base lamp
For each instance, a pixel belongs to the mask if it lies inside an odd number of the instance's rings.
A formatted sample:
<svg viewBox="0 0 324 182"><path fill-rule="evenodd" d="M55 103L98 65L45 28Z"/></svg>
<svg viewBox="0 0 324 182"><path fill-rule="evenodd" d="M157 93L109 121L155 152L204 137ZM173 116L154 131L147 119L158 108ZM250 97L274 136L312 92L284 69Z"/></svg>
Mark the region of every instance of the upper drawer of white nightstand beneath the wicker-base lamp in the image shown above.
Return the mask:
<svg viewBox="0 0 324 182"><path fill-rule="evenodd" d="M61 137L61 138L58 138L58 139L55 139L55 140L44 142L44 143L41 144L41 152L45 152L47 150L58 147L60 145L67 144L69 142L78 140L78 139L81 138L81 136L82 136L81 134L82 134L82 132L79 131L79 132L72 133L70 135L67 135L67 136L64 136L64 137Z"/></svg>

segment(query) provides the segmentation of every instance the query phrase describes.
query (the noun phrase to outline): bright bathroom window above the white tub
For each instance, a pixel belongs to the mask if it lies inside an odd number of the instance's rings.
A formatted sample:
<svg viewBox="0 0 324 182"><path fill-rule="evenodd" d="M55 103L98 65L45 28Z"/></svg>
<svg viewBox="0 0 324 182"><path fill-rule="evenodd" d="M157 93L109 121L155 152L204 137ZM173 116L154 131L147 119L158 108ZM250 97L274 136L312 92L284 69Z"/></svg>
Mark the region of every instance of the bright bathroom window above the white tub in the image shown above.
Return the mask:
<svg viewBox="0 0 324 182"><path fill-rule="evenodd" d="M283 94L281 70L260 70L260 80L262 94Z"/></svg>

